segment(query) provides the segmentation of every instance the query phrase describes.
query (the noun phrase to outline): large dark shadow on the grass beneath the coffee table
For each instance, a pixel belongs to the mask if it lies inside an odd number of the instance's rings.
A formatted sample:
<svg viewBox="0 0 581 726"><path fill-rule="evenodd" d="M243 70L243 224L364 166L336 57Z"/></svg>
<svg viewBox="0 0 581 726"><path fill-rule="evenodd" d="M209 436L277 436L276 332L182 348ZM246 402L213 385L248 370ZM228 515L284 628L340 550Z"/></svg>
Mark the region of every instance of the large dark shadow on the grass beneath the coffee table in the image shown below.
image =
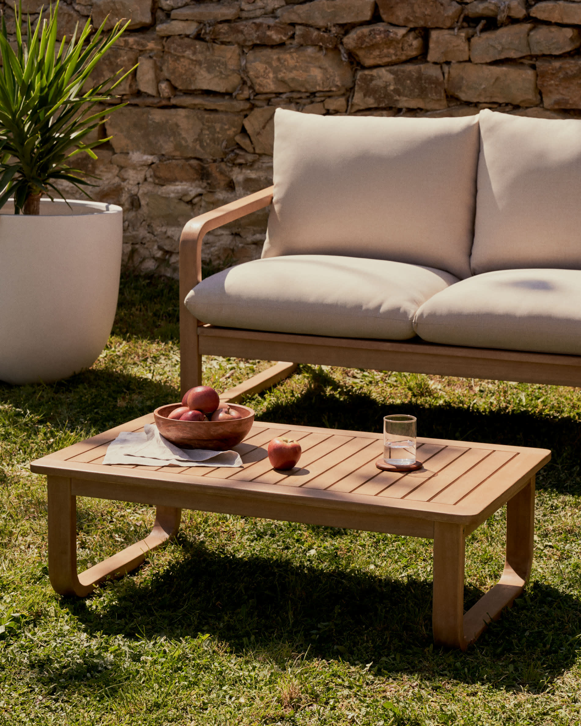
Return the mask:
<svg viewBox="0 0 581 726"><path fill-rule="evenodd" d="M581 603L553 587L532 584L515 608L460 653L433 648L431 580L240 558L184 537L180 544L184 558L147 583L129 576L105 585L115 597L98 614L84 600L62 604L93 633L147 640L207 633L238 654L252 650L283 661L306 653L371 663L382 674L440 675L500 688L543 690L577 657ZM466 605L481 595L466 588Z"/></svg>

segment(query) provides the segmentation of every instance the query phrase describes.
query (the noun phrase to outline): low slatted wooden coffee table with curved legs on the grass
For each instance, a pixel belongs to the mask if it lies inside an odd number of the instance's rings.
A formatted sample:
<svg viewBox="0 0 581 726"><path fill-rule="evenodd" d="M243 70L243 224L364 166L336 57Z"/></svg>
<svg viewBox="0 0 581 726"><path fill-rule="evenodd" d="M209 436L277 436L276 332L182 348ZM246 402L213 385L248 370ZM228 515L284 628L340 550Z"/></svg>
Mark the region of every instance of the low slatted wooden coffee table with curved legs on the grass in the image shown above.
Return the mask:
<svg viewBox="0 0 581 726"><path fill-rule="evenodd" d="M83 597L107 577L145 560L178 528L182 508L266 517L434 539L434 642L466 647L511 606L532 565L535 474L547 449L418 439L423 469L381 472L381 434L255 423L237 446L243 468L104 466L120 431L141 431L153 415L100 433L31 463L48 476L49 577L62 595ZM300 468L273 470L265 445L284 434L301 441ZM77 574L76 497L155 505L149 537ZM464 542L508 502L500 582L465 614Z"/></svg>

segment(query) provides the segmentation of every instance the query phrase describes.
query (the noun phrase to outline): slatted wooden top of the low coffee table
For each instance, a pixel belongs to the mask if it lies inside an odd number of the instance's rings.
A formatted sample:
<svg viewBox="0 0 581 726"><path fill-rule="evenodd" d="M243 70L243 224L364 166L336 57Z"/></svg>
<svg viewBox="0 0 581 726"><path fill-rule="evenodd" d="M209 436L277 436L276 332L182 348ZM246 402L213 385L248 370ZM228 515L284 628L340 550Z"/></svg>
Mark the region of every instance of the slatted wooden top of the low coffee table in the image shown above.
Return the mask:
<svg viewBox="0 0 581 726"><path fill-rule="evenodd" d="M429 520L477 524L497 510L550 460L548 449L418 438L423 468L388 473L375 468L383 455L383 436L361 431L255 423L237 451L243 468L103 465L107 445L120 431L142 431L153 414L99 433L31 463L35 473L81 480L147 482L167 490L184 485L202 492L219 488L262 492L269 497L304 497L335 507L370 508ZM273 470L267 444L275 436L300 441L299 465ZM216 490L217 491L217 490Z"/></svg>

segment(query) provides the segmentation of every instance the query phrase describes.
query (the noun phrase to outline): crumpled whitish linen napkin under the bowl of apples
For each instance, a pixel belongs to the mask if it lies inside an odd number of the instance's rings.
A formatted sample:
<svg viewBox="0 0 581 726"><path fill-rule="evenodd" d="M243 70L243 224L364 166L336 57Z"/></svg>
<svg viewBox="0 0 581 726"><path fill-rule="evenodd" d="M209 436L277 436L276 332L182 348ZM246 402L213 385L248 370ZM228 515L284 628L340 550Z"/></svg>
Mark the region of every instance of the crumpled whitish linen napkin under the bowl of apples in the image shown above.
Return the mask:
<svg viewBox="0 0 581 726"><path fill-rule="evenodd" d="M214 452L208 449L180 449L147 424L143 431L121 431L107 446L103 464L140 464L145 466L242 466L240 454L234 451Z"/></svg>

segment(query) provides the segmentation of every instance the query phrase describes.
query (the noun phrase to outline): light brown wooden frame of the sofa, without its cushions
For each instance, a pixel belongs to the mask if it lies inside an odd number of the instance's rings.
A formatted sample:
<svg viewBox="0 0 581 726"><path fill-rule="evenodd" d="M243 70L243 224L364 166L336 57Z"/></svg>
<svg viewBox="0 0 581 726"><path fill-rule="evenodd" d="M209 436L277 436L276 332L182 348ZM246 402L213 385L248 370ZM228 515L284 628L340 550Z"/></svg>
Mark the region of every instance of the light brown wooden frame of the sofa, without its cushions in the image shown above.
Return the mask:
<svg viewBox="0 0 581 726"><path fill-rule="evenodd" d="M273 187L268 187L206 212L190 219L182 231L179 244L182 392L191 386L200 385L203 354L280 361L267 371L225 392L222 396L224 401L235 401L247 393L256 393L273 386L289 375L298 363L553 383L560 386L581 385L581 356L443 346L425 343L419 338L392 342L265 333L215 327L198 321L185 307L184 299L192 287L202 280L204 235L269 206L272 203L272 192Z"/></svg>

